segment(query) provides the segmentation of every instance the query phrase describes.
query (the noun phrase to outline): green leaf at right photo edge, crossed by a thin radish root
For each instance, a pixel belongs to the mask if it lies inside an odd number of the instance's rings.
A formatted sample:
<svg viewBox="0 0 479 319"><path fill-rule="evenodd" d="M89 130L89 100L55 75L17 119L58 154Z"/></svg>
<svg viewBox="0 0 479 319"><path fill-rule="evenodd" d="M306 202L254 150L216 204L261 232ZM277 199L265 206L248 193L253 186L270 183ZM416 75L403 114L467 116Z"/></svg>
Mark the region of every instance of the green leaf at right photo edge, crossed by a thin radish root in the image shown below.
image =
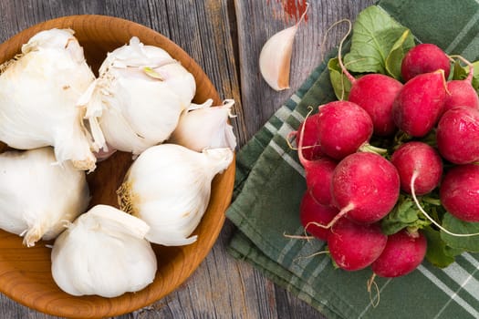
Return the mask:
<svg viewBox="0 0 479 319"><path fill-rule="evenodd" d="M449 212L444 214L442 226L453 233L479 233L479 222L461 221ZM479 252L479 235L458 237L441 231L441 239L453 249Z"/></svg>

